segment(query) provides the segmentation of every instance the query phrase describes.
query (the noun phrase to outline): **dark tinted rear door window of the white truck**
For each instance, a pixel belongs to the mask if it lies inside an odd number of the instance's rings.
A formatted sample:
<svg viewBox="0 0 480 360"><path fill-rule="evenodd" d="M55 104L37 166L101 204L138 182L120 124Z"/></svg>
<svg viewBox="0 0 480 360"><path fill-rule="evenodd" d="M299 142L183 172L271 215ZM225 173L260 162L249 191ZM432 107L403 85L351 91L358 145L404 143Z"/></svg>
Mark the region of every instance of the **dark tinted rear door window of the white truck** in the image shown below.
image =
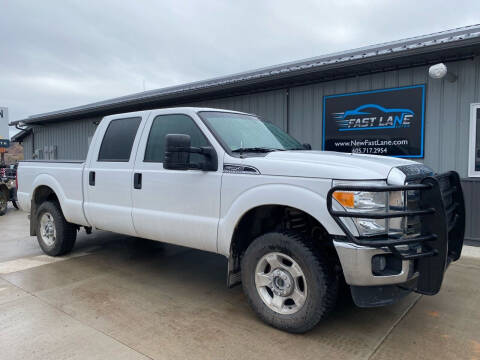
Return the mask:
<svg viewBox="0 0 480 360"><path fill-rule="evenodd" d="M139 117L113 120L103 137L98 161L128 162L141 120Z"/></svg>

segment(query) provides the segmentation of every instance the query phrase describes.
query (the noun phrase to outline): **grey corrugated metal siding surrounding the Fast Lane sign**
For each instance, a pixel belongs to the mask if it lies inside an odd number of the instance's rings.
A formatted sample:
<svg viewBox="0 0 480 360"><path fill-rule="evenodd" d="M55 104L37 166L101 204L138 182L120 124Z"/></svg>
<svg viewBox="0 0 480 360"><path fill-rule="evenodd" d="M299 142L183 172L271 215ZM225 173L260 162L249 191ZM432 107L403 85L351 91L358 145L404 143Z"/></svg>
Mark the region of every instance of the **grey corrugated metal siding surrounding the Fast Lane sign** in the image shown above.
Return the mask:
<svg viewBox="0 0 480 360"><path fill-rule="evenodd" d="M420 161L467 177L470 104L480 102L480 61L449 63L448 68L458 75L454 83L429 78L425 66L291 88L288 129L321 149L323 96L426 84L425 158Z"/></svg>

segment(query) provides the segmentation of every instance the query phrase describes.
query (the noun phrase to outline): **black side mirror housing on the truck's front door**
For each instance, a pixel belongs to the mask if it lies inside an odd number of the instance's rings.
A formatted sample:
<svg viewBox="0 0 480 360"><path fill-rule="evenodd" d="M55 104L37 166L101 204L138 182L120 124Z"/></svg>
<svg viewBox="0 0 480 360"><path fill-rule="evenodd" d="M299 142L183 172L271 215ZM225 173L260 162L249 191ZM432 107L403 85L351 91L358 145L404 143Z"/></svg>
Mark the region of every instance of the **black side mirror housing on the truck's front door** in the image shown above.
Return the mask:
<svg viewBox="0 0 480 360"><path fill-rule="evenodd" d="M188 170L190 168L190 135L168 134L165 136L163 168Z"/></svg>

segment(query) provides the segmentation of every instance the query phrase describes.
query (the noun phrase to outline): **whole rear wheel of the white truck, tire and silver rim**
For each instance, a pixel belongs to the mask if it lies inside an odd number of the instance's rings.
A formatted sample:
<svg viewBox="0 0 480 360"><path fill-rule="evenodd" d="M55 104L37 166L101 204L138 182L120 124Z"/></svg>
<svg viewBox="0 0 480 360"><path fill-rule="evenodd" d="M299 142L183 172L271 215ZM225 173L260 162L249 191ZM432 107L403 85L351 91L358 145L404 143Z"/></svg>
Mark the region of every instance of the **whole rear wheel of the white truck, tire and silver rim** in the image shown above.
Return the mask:
<svg viewBox="0 0 480 360"><path fill-rule="evenodd" d="M77 238L75 225L68 223L57 203L44 202L37 211L37 239L50 256L69 253Z"/></svg>

